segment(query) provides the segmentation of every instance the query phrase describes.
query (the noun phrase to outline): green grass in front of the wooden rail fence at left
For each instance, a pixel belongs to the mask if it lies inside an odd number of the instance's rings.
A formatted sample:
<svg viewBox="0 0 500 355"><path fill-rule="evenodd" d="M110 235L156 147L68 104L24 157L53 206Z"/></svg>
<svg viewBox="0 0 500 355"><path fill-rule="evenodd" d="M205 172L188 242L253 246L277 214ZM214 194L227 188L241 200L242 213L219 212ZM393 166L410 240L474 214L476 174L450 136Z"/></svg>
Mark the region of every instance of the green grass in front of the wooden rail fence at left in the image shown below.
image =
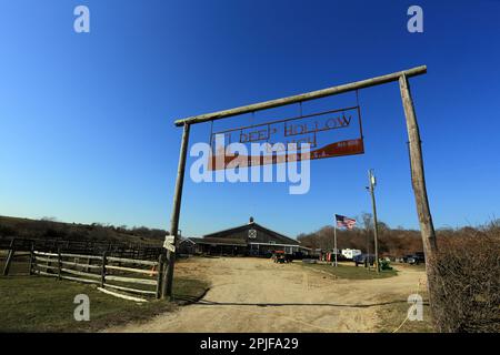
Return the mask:
<svg viewBox="0 0 500 355"><path fill-rule="evenodd" d="M174 280L174 297L196 300L208 284L190 278ZM90 298L90 321L77 322L74 296ZM104 294L96 285L42 276L0 277L0 332L97 332L131 321L146 321L170 312L182 302L134 303Z"/></svg>

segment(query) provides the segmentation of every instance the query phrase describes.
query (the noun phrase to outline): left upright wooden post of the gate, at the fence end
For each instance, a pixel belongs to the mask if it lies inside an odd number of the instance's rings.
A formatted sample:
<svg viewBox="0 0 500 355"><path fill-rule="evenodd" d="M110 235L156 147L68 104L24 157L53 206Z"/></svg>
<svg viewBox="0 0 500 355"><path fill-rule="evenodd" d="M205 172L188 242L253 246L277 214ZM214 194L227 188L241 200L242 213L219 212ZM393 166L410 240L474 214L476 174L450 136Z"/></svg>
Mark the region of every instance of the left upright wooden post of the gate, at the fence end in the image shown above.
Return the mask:
<svg viewBox="0 0 500 355"><path fill-rule="evenodd" d="M179 166L177 169L176 192L173 194L173 210L170 220L170 235L173 235L173 245L177 245L177 236L179 232L179 215L182 201L182 185L184 183L186 158L188 155L190 124L184 123L182 132L182 142L179 154ZM172 297L173 285L173 267L176 264L176 252L167 251L167 271L164 273L162 297Z"/></svg>

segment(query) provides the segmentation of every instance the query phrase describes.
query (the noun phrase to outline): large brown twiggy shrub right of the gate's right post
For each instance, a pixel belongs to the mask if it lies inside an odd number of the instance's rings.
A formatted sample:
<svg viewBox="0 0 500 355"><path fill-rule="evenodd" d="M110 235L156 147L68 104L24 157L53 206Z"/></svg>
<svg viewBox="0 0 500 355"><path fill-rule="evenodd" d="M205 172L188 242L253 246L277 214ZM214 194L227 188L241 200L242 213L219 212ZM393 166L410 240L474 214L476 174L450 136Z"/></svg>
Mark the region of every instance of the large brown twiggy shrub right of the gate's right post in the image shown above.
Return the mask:
<svg viewBox="0 0 500 355"><path fill-rule="evenodd" d="M432 315L440 332L500 332L500 227L439 240L431 262Z"/></svg>

